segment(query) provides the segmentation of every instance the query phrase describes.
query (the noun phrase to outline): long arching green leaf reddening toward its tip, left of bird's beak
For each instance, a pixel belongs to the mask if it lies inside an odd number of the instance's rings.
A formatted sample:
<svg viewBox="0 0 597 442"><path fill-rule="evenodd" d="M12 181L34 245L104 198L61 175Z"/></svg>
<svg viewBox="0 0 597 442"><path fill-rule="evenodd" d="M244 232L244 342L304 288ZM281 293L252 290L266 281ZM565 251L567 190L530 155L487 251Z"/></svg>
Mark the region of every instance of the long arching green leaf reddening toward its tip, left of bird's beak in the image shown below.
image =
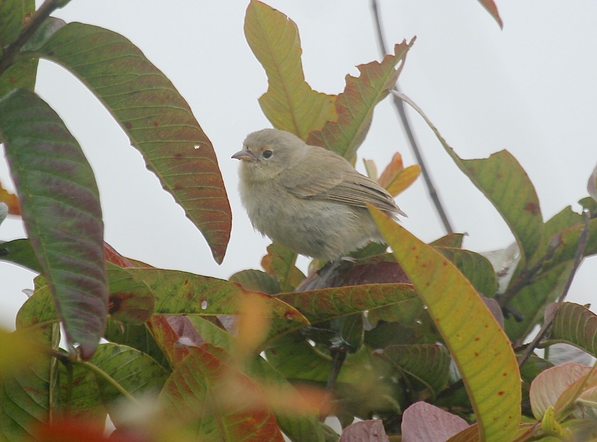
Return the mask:
<svg viewBox="0 0 597 442"><path fill-rule="evenodd" d="M220 263L232 216L210 140L174 85L128 39L69 23L32 55L75 74L103 102Z"/></svg>

